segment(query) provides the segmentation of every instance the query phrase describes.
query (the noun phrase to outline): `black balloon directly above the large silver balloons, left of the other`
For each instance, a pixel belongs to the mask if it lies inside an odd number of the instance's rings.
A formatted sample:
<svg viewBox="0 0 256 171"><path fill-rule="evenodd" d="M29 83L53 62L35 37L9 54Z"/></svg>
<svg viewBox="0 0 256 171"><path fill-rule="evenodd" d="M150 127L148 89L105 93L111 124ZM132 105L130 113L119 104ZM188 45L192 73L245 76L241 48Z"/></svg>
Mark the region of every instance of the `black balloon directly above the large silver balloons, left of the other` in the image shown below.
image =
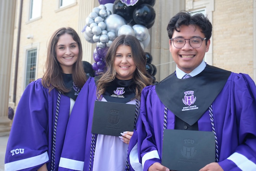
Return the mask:
<svg viewBox="0 0 256 171"><path fill-rule="evenodd" d="M113 13L123 17L127 22L133 19L134 6L127 6L120 0L115 0L113 3Z"/></svg>

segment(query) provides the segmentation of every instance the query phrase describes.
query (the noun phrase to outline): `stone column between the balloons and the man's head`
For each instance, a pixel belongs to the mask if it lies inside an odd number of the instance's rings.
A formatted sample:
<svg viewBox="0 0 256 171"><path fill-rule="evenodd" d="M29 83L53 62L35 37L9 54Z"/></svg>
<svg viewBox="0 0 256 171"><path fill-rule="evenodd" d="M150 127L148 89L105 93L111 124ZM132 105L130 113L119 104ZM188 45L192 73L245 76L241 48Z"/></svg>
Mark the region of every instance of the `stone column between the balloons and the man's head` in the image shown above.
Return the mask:
<svg viewBox="0 0 256 171"><path fill-rule="evenodd" d="M185 7L185 0L157 0L154 5L156 19L154 25L149 29L151 43L144 51L151 53L152 64L156 65L156 81L162 81L175 71L176 63L169 51L169 37L166 28L170 19L181 10L185 10Z"/></svg>

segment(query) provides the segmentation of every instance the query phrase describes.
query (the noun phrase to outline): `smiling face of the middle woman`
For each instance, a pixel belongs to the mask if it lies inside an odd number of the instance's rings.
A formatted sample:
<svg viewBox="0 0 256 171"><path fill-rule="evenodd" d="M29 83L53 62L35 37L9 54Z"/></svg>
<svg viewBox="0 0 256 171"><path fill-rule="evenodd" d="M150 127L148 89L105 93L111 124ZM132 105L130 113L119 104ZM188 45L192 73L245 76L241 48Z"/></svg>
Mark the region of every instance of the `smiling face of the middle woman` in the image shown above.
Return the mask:
<svg viewBox="0 0 256 171"><path fill-rule="evenodd" d="M136 65L131 57L131 47L120 45L117 47L114 59L114 67L117 72L116 78L121 80L132 79Z"/></svg>

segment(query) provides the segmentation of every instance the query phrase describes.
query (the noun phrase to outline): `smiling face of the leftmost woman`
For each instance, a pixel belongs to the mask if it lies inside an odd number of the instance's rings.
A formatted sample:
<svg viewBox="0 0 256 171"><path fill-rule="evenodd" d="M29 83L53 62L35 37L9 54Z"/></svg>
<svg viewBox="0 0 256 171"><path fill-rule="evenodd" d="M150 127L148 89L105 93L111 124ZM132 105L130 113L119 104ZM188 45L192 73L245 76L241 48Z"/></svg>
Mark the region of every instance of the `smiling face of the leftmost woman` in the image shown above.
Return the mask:
<svg viewBox="0 0 256 171"><path fill-rule="evenodd" d="M71 74L73 64L78 59L79 47L70 34L65 33L59 37L55 53L63 73Z"/></svg>

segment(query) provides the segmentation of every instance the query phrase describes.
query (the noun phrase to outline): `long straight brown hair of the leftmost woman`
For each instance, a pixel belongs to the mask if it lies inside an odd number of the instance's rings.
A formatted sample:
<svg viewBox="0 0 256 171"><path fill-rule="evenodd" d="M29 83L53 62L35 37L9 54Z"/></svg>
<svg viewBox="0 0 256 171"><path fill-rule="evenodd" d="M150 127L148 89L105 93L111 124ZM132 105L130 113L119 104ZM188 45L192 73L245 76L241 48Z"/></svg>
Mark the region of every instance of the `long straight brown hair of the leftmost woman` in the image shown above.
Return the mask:
<svg viewBox="0 0 256 171"><path fill-rule="evenodd" d="M72 69L72 78L76 86L83 87L84 83L86 82L86 74L84 73L82 57L83 57L83 50L81 46L81 40L79 35L76 31L71 27L62 27L56 30L52 37L50 38L49 45L47 48L47 59L45 62L45 71L44 76L42 77L42 85L45 88L49 89L49 93L52 89L56 88L62 93L69 92L70 89L67 89L63 82L63 70L60 67L60 63L56 57L56 44L60 36L64 35L65 33L71 35L73 40L76 41L79 48L78 59L73 64Z"/></svg>

